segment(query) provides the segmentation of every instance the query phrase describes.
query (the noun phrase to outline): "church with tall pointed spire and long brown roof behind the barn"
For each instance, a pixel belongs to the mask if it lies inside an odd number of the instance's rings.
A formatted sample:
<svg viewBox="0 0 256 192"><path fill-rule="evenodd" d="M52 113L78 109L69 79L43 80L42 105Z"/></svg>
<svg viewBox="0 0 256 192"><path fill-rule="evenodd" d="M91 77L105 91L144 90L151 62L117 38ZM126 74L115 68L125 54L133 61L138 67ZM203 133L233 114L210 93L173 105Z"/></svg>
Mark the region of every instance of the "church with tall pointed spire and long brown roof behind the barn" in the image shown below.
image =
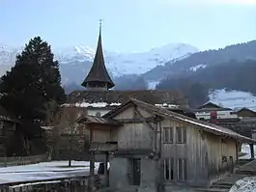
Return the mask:
<svg viewBox="0 0 256 192"><path fill-rule="evenodd" d="M82 86L85 91L74 91L69 96L68 103L63 106L75 105L87 108L88 115L100 117L117 106L126 103L130 97L143 100L164 108L187 108L187 102L180 93L174 91L138 90L115 91L114 82L104 64L101 44L101 29L94 63L85 77Z"/></svg>

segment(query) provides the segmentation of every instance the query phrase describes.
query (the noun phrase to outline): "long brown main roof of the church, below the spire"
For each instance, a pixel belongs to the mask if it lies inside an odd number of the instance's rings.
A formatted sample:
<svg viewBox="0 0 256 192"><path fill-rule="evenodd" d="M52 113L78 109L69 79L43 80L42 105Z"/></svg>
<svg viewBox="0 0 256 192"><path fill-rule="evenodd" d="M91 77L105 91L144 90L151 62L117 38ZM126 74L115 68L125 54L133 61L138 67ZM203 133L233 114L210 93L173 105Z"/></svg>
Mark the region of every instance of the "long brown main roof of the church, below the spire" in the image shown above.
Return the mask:
<svg viewBox="0 0 256 192"><path fill-rule="evenodd" d="M69 103L102 103L114 105L126 103L133 97L151 104L172 104L187 108L184 96L175 91L137 90L137 91L74 91L68 98ZM116 107L116 106L115 106Z"/></svg>

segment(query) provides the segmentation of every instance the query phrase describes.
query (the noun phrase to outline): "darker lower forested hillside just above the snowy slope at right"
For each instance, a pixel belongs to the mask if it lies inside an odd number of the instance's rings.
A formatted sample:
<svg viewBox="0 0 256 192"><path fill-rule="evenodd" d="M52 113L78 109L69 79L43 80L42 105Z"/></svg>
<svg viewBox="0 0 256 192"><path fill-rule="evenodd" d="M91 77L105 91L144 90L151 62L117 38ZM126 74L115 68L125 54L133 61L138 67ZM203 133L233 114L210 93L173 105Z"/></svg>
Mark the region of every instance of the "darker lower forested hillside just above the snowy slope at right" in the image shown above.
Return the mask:
<svg viewBox="0 0 256 192"><path fill-rule="evenodd" d="M256 54L255 54L256 55ZM191 107L208 100L210 89L227 88L256 94L256 60L229 62L198 69L182 77L169 76L161 80L156 89L177 89L183 91Z"/></svg>

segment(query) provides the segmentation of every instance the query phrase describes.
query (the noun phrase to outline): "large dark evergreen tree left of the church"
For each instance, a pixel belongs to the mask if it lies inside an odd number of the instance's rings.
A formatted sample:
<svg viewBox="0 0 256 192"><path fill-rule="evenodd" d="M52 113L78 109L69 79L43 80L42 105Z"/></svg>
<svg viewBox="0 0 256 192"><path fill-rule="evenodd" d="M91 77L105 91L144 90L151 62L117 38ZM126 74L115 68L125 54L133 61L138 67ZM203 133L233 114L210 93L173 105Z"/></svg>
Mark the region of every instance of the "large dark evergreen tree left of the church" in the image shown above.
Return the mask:
<svg viewBox="0 0 256 192"><path fill-rule="evenodd" d="M36 37L25 44L14 68L1 77L0 93L1 104L29 122L45 119L45 103L65 101L59 64L46 41Z"/></svg>

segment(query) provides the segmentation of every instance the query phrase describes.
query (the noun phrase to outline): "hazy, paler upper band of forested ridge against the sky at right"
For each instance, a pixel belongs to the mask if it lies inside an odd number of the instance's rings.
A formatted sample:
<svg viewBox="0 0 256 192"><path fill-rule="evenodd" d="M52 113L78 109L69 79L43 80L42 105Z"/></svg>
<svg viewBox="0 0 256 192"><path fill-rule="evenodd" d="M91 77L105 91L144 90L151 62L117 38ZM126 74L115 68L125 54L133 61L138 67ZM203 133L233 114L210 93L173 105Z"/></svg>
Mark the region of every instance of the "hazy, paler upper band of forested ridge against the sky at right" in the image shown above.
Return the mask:
<svg viewBox="0 0 256 192"><path fill-rule="evenodd" d="M197 52L189 57L177 61L168 62L164 66L157 66L143 74L146 80L159 80L166 76L180 76L184 73L191 73L199 65L204 65L206 68L228 63L230 60L244 62L248 59L256 59L256 41L234 44L219 48L217 50L207 50Z"/></svg>

